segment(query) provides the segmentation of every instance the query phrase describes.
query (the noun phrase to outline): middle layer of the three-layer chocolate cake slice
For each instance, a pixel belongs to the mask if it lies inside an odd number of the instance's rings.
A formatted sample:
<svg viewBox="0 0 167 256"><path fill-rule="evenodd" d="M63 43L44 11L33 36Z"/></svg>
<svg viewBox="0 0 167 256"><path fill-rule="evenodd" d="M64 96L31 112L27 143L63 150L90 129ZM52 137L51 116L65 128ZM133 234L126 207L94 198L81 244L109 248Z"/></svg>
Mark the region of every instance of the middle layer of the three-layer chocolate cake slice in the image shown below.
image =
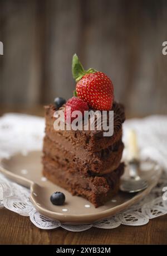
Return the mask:
<svg viewBox="0 0 167 256"><path fill-rule="evenodd" d="M120 164L124 149L121 139L108 148L94 153L63 140L60 137L59 140L52 141L46 135L43 140L43 152L74 172L78 170L85 174L101 175L112 172Z"/></svg>

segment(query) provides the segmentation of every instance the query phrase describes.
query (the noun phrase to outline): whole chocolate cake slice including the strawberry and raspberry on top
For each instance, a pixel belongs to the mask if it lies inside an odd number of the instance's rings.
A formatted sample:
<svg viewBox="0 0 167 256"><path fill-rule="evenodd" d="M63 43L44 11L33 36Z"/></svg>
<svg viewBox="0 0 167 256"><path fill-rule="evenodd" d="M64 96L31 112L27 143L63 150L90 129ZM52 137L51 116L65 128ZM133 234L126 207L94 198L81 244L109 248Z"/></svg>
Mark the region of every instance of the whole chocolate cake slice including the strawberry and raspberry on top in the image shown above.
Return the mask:
<svg viewBox="0 0 167 256"><path fill-rule="evenodd" d="M75 58L73 58L75 62ZM77 59L78 61L78 59ZM77 63L80 65L80 63ZM75 69L75 64L73 64ZM86 71L85 71L86 72ZM88 71L87 71L88 72ZM124 164L120 163L122 150L122 123L125 120L124 107L113 102L113 86L111 80L101 72L84 73L77 82L77 97L70 99L66 105L48 105L45 107L46 129L43 140L43 175L53 183L72 193L87 198L95 207L114 196L119 190L120 177L124 172ZM73 74L75 71L73 71ZM91 76L90 79L85 76ZM76 78L76 77L75 77ZM82 90L82 79L84 79ZM100 79L100 82L99 82ZM78 86L78 83L79 86ZM91 84L100 86L95 97L89 99ZM87 84L87 87L86 87ZM100 85L99 85L100 84ZM103 88L104 85L104 88ZM105 94L102 99L101 94ZM83 98L84 95L84 98ZM100 99L98 98L100 97ZM85 99L86 98L86 99ZM63 102L64 103L64 102ZM104 107L102 107L104 105ZM110 121L110 110L114 111L114 134L104 136L104 130L67 130L67 107L71 110L107 111L107 122ZM57 117L54 113L59 108L65 116L65 129L55 129ZM70 115L72 116L71 112ZM74 118L75 119L75 118ZM102 120L103 121L103 120ZM72 122L72 121L71 121Z"/></svg>

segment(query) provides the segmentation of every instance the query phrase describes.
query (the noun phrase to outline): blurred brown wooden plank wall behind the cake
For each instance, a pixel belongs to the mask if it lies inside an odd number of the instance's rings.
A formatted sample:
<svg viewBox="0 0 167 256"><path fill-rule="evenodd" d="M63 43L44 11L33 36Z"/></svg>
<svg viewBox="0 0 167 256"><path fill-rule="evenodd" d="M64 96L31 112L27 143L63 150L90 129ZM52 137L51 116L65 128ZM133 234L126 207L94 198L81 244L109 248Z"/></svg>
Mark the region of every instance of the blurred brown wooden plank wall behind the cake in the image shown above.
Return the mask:
<svg viewBox="0 0 167 256"><path fill-rule="evenodd" d="M71 97L77 53L111 77L129 115L167 113L166 0L0 0L0 41L3 106Z"/></svg>

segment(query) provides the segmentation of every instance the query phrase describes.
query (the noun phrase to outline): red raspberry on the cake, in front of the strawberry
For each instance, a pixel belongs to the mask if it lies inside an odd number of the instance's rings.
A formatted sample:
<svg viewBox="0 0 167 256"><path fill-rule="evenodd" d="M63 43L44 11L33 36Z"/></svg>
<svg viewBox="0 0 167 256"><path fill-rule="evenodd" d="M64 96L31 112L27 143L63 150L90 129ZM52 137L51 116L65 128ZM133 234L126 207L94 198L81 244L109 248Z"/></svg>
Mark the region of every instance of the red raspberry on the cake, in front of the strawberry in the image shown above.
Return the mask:
<svg viewBox="0 0 167 256"><path fill-rule="evenodd" d="M80 98L72 97L71 99L68 99L65 108L65 120L68 124L70 124L71 114L75 110L81 111L82 116L84 116L84 111L89 110L89 107L87 106L87 103ZM75 118L76 117L71 117L71 121Z"/></svg>

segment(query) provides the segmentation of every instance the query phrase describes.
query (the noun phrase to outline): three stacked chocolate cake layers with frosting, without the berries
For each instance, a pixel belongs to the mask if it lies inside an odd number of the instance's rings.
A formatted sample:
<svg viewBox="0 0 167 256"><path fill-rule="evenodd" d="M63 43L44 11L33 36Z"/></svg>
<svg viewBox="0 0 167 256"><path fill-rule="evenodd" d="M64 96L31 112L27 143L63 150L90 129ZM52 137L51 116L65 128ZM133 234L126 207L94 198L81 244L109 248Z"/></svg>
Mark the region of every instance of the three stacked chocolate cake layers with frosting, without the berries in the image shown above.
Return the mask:
<svg viewBox="0 0 167 256"><path fill-rule="evenodd" d="M60 110L65 111L65 106ZM124 107L114 102L114 134L98 130L55 130L55 106L45 107L46 135L43 140L43 175L72 193L87 198L95 207L114 196L124 172L120 164ZM93 110L94 111L94 110ZM109 112L107 112L109 121Z"/></svg>

